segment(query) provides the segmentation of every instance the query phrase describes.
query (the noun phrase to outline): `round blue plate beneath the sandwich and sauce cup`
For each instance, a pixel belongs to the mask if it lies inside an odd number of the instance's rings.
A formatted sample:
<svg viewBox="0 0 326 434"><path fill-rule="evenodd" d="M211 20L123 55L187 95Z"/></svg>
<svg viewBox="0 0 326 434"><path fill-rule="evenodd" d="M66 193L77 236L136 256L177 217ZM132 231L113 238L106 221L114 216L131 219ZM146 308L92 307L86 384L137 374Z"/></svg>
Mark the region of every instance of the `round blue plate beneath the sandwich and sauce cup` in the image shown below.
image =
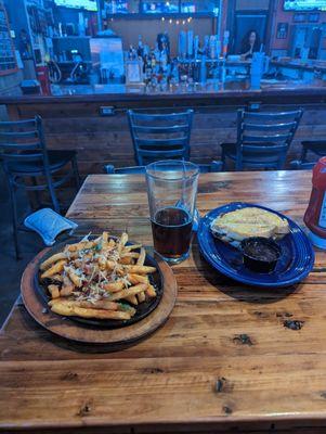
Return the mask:
<svg viewBox="0 0 326 434"><path fill-rule="evenodd" d="M210 231L212 220L219 215L248 206L266 209L286 218L290 227L290 233L278 241L278 245L282 248L282 257L275 270L268 275L253 272L245 268L242 253L237 248L216 239ZM212 209L200 219L197 238L203 256L212 267L229 278L248 285L263 288L292 285L304 279L314 265L312 245L300 227L288 217L259 205L235 202Z"/></svg>

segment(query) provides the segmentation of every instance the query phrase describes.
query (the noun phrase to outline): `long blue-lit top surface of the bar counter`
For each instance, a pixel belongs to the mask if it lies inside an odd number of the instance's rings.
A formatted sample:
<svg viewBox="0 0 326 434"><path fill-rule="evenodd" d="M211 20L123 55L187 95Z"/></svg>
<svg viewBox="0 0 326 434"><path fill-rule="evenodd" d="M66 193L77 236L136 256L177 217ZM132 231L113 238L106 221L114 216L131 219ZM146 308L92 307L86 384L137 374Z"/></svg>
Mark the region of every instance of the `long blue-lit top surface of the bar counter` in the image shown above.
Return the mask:
<svg viewBox="0 0 326 434"><path fill-rule="evenodd" d="M208 81L201 84L180 84L169 87L148 88L143 85L52 85L51 95L16 95L1 97L0 104L15 105L19 103L61 103L61 102L114 102L118 106L128 106L133 100L141 106L148 101L154 105L188 105L198 100L207 100L213 104L237 102L240 105L252 99L264 103L289 103L284 97L291 97L298 103L323 103L326 99L326 82L315 79L276 80L262 79L261 89L251 89L248 79L226 81L225 84ZM181 100L181 102L180 102ZM123 104L125 103L125 104ZM291 103L291 102L290 102Z"/></svg>

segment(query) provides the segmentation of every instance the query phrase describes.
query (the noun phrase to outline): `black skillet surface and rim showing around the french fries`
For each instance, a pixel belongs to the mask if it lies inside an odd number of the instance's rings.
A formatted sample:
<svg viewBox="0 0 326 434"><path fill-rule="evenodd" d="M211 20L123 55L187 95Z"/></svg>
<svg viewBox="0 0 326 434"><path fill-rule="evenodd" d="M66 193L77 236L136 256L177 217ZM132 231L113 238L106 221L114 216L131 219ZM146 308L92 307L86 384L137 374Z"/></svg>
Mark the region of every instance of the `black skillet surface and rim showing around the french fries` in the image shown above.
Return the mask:
<svg viewBox="0 0 326 434"><path fill-rule="evenodd" d="M95 237L90 237L90 240L94 239ZM45 259L48 259L50 256L60 253L63 251L64 246L66 244L74 244L78 241L71 240L67 241L64 243L60 243L55 246L53 246L49 252L45 253L45 255L41 258L39 261L37 268L36 268L36 273L34 277L34 283L35 283L35 290L37 294L41 297L42 302L44 303L44 307L48 307L48 302L50 302L51 297L48 294L47 286L40 282L40 270L39 266L41 263L43 263ZM127 245L131 245L131 243L127 243ZM136 252L136 251L135 251ZM131 326L134 324L135 322L141 321L145 317L147 317L159 304L162 293L164 293L164 277L160 271L160 268L157 264L157 261L154 259L153 256L146 255L145 263L144 265L155 267L157 271L153 275L149 276L149 282L151 284L154 285L156 290L156 297L155 298L149 298L143 303L141 303L138 306L132 306L136 308L135 315L129 319L129 320L108 320L108 319L90 319L90 318L81 318L81 317L64 317L61 316L62 318L67 318L73 321L92 327L92 328L104 328L104 329L119 329L121 327L126 326ZM45 281L45 283L50 283ZM128 304L127 301L123 301L123 303Z"/></svg>

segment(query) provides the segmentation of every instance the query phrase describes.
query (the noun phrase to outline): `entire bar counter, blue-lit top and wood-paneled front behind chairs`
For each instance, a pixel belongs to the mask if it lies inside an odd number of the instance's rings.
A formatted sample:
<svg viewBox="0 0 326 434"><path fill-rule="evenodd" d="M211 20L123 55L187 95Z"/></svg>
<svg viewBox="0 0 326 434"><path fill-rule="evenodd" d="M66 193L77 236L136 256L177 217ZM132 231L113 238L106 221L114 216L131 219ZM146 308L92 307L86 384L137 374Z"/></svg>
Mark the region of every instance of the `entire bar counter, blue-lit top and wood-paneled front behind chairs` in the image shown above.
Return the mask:
<svg viewBox="0 0 326 434"><path fill-rule="evenodd" d="M76 149L83 175L102 173L105 164L135 164L128 108L193 108L191 159L208 163L219 158L220 143L235 140L237 108L285 111L301 106L304 115L289 150L289 161L300 155L302 140L325 139L325 102L323 80L262 80L260 90L250 89L248 80L227 81L223 87L183 84L168 90L125 85L56 86L53 95L0 97L11 119L40 115L48 148Z"/></svg>

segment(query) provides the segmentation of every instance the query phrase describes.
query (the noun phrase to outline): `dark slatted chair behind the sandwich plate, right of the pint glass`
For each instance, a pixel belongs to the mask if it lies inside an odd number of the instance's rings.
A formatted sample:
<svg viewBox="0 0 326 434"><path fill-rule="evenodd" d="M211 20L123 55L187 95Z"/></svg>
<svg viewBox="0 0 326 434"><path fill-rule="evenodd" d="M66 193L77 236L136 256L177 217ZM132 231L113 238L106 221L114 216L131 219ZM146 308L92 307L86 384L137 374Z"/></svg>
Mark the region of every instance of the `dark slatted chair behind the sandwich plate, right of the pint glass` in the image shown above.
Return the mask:
<svg viewBox="0 0 326 434"><path fill-rule="evenodd" d="M283 169L303 111L257 113L238 110L237 141L222 143L223 169L226 158L244 168Z"/></svg>

